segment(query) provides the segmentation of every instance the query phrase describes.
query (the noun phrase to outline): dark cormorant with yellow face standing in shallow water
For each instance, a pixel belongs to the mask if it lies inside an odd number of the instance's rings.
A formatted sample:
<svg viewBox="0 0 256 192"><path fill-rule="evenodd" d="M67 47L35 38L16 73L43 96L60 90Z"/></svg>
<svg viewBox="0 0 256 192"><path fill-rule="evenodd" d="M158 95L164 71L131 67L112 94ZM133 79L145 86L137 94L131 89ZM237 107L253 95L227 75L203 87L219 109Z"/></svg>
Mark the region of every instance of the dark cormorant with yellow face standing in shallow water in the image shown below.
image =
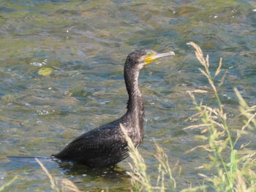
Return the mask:
<svg viewBox="0 0 256 192"><path fill-rule="evenodd" d="M135 147L143 140L143 98L138 87L138 76L143 66L169 55L154 50L141 49L129 53L124 64L124 81L129 100L127 112L118 120L114 120L99 128L82 134L67 145L61 152L51 155L60 160L76 161L90 167L113 166L129 155L127 141L121 131L124 126Z"/></svg>

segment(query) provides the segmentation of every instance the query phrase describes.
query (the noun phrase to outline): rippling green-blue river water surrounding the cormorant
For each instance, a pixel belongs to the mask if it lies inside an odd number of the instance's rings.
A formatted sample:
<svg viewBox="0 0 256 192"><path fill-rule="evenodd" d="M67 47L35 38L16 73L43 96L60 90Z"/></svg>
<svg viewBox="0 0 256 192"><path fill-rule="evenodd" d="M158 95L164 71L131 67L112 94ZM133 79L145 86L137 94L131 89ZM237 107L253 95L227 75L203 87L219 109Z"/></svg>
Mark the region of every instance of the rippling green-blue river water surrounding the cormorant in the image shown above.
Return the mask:
<svg viewBox="0 0 256 192"><path fill-rule="evenodd" d="M152 138L171 165L179 160L179 189L198 185L195 167L208 161L200 150L185 154L201 144L194 137L198 131L182 129L192 124L185 120L194 112L186 91L208 85L187 42L210 55L213 71L223 58L222 74L228 72L220 94L232 126L241 125L234 87L256 104L255 1L1 1L0 26L0 185L18 176L10 191L50 191L50 184L35 161L10 161L7 155L48 156L124 114L122 69L132 50L176 53L140 74L146 108L140 153L152 180L157 175ZM53 72L39 75L42 67ZM255 141L255 133L245 139ZM127 161L103 170L42 163L53 177L68 178L83 191L127 191Z"/></svg>

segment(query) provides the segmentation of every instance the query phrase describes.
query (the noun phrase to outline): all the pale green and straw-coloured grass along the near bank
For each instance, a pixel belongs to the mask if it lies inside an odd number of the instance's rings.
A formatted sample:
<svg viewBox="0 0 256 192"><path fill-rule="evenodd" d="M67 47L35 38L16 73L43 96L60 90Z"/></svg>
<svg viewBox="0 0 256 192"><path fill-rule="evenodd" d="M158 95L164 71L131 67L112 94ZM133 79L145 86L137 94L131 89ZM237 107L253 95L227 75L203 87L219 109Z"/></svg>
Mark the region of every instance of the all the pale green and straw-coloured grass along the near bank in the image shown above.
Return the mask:
<svg viewBox="0 0 256 192"><path fill-rule="evenodd" d="M186 130L200 130L197 139L202 139L204 145L193 147L187 153L195 150L202 150L202 153L208 155L208 162L202 164L196 169L203 169L204 174L199 173L202 178L200 184L192 183L189 188L182 189L181 192L192 191L232 191L232 192L253 192L256 191L256 150L249 147L250 142L243 142L243 135L251 134L256 128L256 106L249 107L242 98L237 88L234 88L239 102L239 118L243 125L241 128L232 128L229 126L230 119L227 117L227 110L219 98L219 88L225 81L227 72L224 72L220 81L216 77L222 74L222 58L219 60L219 66L214 72L210 72L209 57L204 57L203 51L194 42L189 42L195 48L197 60L202 65L200 72L205 76L209 83L209 89L196 89L187 91L192 99L195 107L195 115L190 118L197 119L197 125L188 126ZM212 94L215 98L214 107L198 101L197 94ZM122 127L122 126L121 126ZM151 177L147 174L147 166L140 155L137 148L132 145L132 141L127 136L126 131L122 127L124 135L129 145L129 155L132 162L129 163L130 170L127 172L131 177L131 191L178 191L176 185L176 175L173 171L178 167L178 162L170 166L167 154L162 147L154 140L156 147L157 161L159 161L157 182L152 183ZM80 192L78 187L67 179L54 178L45 166L36 158L37 163L42 170L48 175L50 187L52 191L76 191ZM4 191L9 185L18 180L14 177L9 182L0 187L0 191ZM195 185L195 186L193 186ZM105 190L108 191L108 190Z"/></svg>

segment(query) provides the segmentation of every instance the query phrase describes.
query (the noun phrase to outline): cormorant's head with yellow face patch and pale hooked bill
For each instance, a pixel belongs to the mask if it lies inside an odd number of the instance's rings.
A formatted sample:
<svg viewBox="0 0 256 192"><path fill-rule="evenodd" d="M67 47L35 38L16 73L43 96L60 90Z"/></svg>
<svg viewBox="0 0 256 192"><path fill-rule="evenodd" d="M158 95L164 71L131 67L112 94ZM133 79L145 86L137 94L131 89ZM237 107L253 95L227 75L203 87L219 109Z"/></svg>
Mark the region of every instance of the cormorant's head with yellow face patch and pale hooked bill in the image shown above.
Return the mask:
<svg viewBox="0 0 256 192"><path fill-rule="evenodd" d="M156 61L158 58L166 56L174 56L173 51L167 53L157 53L154 50L141 49L135 50L132 53L129 53L127 56L127 61L125 62L130 67L135 67L137 69L142 69L143 66L151 64L153 61Z"/></svg>

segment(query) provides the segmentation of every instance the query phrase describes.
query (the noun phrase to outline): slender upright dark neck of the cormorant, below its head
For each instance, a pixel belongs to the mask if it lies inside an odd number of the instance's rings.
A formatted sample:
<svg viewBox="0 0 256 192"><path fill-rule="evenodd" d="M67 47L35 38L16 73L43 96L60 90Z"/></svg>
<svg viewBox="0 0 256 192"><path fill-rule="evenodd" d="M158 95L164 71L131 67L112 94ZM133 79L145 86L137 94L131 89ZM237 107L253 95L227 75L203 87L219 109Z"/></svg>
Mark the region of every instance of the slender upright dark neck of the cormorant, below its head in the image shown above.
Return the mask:
<svg viewBox="0 0 256 192"><path fill-rule="evenodd" d="M124 69L124 80L127 86L129 100L127 103L127 113L134 118L143 119L144 107L143 98L138 86L139 70Z"/></svg>

